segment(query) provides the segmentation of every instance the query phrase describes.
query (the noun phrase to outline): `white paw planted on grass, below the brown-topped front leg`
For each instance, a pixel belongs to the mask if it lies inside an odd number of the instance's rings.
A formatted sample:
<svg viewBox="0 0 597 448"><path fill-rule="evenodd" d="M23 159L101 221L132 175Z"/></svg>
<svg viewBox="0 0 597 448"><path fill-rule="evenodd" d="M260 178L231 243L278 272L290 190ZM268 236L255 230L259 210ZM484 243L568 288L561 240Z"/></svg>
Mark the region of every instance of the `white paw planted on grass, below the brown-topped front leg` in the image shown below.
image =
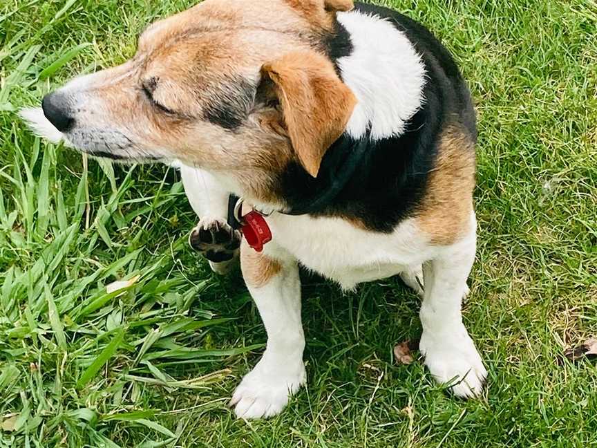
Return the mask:
<svg viewBox="0 0 597 448"><path fill-rule="evenodd" d="M286 369L285 369L286 370ZM290 395L305 384L305 365L292 373L276 373L258 363L240 382L229 406L236 417L243 419L268 418L278 415L286 407Z"/></svg>

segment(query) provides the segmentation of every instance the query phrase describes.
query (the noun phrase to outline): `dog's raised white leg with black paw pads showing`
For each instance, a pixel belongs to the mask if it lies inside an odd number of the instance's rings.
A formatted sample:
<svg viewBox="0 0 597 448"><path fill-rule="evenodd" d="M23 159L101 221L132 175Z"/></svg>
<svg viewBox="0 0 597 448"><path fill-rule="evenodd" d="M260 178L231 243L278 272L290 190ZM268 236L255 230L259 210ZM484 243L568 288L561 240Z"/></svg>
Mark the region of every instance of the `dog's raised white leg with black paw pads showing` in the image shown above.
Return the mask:
<svg viewBox="0 0 597 448"><path fill-rule="evenodd" d="M199 223L189 236L193 249L207 260L211 270L226 274L238 263L240 232L227 223L229 192L207 171L180 165L184 192Z"/></svg>

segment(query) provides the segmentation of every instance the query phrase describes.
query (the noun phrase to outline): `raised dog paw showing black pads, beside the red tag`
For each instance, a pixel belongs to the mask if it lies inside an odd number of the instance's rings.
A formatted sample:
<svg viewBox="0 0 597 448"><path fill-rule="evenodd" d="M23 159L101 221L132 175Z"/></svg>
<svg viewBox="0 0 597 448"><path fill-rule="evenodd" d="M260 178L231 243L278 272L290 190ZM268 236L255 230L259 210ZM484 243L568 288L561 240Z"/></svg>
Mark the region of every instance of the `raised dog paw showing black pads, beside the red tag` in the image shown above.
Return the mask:
<svg viewBox="0 0 597 448"><path fill-rule="evenodd" d="M211 269L218 273L229 268L238 257L240 232L218 218L202 218L189 235L191 248L209 260Z"/></svg>

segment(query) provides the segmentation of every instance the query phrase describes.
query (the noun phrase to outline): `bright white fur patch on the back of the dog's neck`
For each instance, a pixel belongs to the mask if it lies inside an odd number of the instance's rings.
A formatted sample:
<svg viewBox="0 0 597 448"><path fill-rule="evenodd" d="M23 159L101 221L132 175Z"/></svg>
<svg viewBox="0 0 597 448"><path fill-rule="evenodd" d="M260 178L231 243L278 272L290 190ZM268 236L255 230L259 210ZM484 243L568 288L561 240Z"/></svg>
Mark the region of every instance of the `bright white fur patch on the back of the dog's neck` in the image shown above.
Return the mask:
<svg viewBox="0 0 597 448"><path fill-rule="evenodd" d="M371 126L371 138L404 132L424 102L425 68L403 32L390 21L358 11L339 12L353 51L338 59L342 78L359 100L346 131L359 138Z"/></svg>

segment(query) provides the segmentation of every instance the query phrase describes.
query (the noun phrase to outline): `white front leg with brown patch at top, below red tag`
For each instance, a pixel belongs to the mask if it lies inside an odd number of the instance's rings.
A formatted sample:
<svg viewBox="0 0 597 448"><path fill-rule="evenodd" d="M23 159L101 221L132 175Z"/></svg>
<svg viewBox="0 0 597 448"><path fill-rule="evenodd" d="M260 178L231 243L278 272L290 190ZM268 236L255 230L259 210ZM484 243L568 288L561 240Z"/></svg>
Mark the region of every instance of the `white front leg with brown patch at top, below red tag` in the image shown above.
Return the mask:
<svg viewBox="0 0 597 448"><path fill-rule="evenodd" d="M265 325L267 346L230 405L239 418L267 418L280 413L306 379L299 266L291 257L258 254L244 242L240 265Z"/></svg>

